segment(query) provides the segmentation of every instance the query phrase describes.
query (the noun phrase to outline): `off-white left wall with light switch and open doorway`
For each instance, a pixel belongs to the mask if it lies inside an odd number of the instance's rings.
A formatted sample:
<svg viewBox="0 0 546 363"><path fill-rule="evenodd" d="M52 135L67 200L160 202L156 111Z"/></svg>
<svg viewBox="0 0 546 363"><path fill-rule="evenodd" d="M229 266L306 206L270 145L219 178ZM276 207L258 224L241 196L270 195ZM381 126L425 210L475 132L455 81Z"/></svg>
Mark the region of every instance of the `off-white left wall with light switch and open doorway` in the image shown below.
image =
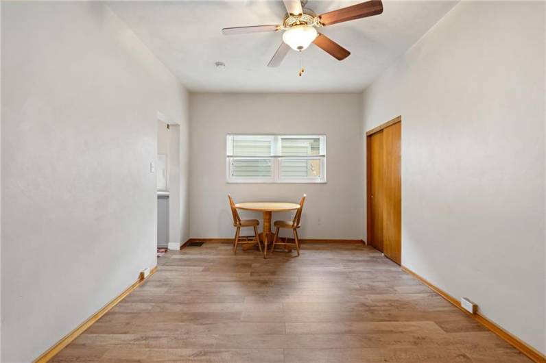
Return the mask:
<svg viewBox="0 0 546 363"><path fill-rule="evenodd" d="M1 16L1 360L29 362L156 265L157 112L187 150L187 94L103 3Z"/></svg>

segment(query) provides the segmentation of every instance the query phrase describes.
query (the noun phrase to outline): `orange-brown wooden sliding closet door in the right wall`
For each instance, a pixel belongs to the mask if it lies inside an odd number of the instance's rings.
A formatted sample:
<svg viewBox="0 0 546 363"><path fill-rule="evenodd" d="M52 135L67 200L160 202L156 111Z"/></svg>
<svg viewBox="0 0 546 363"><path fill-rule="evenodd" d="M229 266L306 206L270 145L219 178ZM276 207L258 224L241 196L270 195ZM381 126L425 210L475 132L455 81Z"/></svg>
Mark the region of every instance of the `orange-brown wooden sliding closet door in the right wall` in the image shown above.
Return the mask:
<svg viewBox="0 0 546 363"><path fill-rule="evenodd" d="M368 240L401 264L401 118L368 135Z"/></svg>

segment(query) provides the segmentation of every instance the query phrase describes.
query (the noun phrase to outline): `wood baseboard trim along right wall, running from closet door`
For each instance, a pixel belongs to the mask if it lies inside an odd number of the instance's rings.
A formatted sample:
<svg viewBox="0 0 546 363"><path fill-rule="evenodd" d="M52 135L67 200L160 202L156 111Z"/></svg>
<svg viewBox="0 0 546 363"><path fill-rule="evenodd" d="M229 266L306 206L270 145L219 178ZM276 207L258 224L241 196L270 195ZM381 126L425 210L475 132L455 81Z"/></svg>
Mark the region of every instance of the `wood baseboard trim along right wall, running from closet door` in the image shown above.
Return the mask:
<svg viewBox="0 0 546 363"><path fill-rule="evenodd" d="M417 275L412 270L410 270L410 268L407 268L405 266L400 266L400 267L402 268L403 271L405 271L406 273L409 273L410 275L412 275L419 281L423 282L423 284L427 285L429 288L431 288L431 290L433 290L438 295L440 295L441 297L443 297L444 299L446 299L447 301L455 305L455 307L461 310L462 312L464 312L464 314L471 316L472 318L474 318L475 321L484 325L484 327L486 327L493 333L497 334L497 336L499 336L503 340L506 340L506 342L512 345L512 347L518 349L519 351L521 351L521 353L527 355L527 357L534 360L534 362L546 362L546 356L540 351L537 351L530 345L527 345L527 343L523 342L523 340L512 335L510 332L506 331L505 329L503 329L496 323L490 321L488 318L486 318L486 316L483 316L479 312L477 312L476 314L471 314L467 312L461 307L460 301L458 301L457 299L449 295L447 292L445 292L441 288L434 286L433 284L431 284L429 281L427 281L420 275Z"/></svg>

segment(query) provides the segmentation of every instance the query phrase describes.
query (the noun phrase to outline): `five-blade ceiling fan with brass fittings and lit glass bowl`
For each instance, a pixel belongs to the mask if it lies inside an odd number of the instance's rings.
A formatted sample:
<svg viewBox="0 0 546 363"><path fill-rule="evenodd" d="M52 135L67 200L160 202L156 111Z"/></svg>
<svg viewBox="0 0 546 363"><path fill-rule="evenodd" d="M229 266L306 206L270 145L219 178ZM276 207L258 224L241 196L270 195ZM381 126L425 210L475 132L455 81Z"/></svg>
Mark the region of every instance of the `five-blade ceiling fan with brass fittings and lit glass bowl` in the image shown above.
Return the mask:
<svg viewBox="0 0 546 363"><path fill-rule="evenodd" d="M226 27L222 29L222 34L230 36L283 31L283 42L281 42L281 46L278 47L273 58L271 58L268 64L270 67L279 66L290 49L304 51L311 43L326 51L337 60L344 60L351 52L324 34L317 32L316 28L366 18L383 12L383 3L381 3L381 0L366 1L365 3L325 12L320 15L315 14L309 8L305 8L307 0L283 0L283 2L285 3L287 13L282 25Z"/></svg>

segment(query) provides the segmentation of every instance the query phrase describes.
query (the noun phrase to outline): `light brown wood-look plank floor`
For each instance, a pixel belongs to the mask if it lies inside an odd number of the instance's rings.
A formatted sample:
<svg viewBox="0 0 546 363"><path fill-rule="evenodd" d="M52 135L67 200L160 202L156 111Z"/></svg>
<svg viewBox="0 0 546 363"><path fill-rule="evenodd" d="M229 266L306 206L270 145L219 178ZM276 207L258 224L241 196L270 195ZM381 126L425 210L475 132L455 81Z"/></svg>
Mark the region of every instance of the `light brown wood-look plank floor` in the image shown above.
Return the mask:
<svg viewBox="0 0 546 363"><path fill-rule="evenodd" d="M54 362L530 362L381 253L169 251Z"/></svg>

